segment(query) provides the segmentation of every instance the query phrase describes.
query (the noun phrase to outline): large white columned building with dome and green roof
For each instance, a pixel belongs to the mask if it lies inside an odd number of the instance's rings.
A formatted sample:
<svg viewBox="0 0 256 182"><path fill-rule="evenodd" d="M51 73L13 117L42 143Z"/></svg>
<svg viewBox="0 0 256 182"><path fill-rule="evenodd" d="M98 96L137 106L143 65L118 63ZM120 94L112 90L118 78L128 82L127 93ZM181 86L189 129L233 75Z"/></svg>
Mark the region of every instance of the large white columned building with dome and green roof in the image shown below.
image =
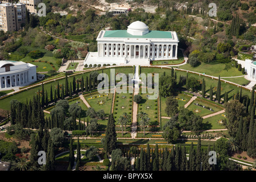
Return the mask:
<svg viewBox="0 0 256 182"><path fill-rule="evenodd" d="M177 59L179 38L174 31L150 31L143 22L127 30L102 30L97 37L98 52L89 52L87 64L150 64L154 60Z"/></svg>

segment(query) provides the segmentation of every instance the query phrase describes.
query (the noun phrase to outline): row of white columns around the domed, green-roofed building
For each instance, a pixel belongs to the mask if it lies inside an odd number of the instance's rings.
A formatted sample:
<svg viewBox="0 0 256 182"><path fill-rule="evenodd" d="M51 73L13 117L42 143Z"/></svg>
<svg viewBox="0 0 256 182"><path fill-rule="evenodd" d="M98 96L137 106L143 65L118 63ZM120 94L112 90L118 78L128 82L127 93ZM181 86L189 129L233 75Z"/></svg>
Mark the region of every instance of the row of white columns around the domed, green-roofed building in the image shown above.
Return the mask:
<svg viewBox="0 0 256 182"><path fill-rule="evenodd" d="M173 59L177 57L177 45L173 44L115 44L98 45L99 56L127 57L132 59ZM101 52L100 52L101 51Z"/></svg>

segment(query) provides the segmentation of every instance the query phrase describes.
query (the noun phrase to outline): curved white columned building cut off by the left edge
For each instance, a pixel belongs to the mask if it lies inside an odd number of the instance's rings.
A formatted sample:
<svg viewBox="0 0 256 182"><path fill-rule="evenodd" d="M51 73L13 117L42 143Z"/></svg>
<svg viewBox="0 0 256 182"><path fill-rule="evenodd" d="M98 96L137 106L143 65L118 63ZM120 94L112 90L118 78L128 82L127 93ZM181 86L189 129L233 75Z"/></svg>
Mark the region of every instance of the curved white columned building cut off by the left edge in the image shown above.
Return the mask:
<svg viewBox="0 0 256 182"><path fill-rule="evenodd" d="M0 90L10 90L36 81L36 66L22 61L0 61Z"/></svg>

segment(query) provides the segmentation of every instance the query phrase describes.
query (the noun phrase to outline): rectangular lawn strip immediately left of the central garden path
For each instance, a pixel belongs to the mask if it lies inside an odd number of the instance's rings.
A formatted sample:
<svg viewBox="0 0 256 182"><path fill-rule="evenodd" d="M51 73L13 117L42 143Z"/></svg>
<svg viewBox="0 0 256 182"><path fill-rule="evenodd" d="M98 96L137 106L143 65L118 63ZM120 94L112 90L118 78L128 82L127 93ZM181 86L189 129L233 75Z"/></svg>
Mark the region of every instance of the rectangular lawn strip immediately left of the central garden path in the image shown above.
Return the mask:
<svg viewBox="0 0 256 182"><path fill-rule="evenodd" d="M133 118L133 94L132 93L115 93L114 118L115 121L123 114L127 113Z"/></svg>

